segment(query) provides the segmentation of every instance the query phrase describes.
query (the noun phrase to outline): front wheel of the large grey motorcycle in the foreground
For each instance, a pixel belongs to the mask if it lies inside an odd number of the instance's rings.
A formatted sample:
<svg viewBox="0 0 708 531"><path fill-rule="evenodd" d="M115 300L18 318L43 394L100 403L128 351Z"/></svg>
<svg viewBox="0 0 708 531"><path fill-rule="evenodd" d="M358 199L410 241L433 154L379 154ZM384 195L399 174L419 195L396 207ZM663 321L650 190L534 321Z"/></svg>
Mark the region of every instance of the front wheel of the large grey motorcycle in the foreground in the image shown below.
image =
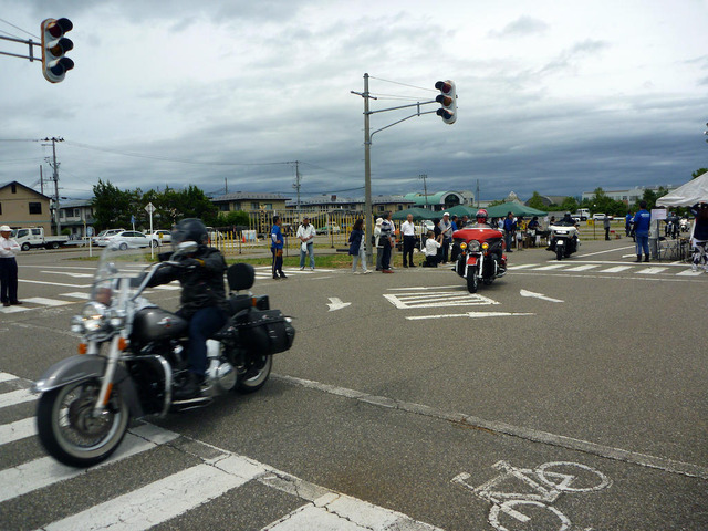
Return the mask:
<svg viewBox="0 0 708 531"><path fill-rule="evenodd" d="M91 379L44 393L37 408L37 429L44 449L72 467L91 467L118 447L127 431L131 414L117 387L106 410L93 413L101 382Z"/></svg>

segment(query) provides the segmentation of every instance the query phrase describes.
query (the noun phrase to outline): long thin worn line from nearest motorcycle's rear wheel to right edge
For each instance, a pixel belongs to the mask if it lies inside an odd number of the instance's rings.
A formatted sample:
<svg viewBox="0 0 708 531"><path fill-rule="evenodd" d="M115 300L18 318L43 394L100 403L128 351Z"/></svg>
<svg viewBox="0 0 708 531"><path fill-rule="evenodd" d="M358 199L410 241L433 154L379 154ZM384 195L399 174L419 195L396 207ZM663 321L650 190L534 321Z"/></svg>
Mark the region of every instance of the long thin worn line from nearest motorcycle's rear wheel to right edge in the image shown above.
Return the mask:
<svg viewBox="0 0 708 531"><path fill-rule="evenodd" d="M538 429L513 426L497 420L486 420L483 418L475 417L464 413L445 412L436 407L409 402L400 402L394 398L388 398L386 396L367 395L366 393L357 392L354 389L336 387L334 385L322 384L320 382L313 382L310 379L296 378L294 376L273 374L272 377L275 379L280 379L281 382L288 382L292 385L298 385L300 387L316 389L330 395L342 396L344 398L364 402L366 404L378 407L415 413L416 415L438 418L440 420L447 420L450 423L462 423L465 426L477 426L512 437L519 437L524 440L532 440L534 442L556 446L560 448L568 448L570 450L583 451L586 454L592 454L594 456L605 457L607 459L632 462L647 468L656 468L670 473L679 473L681 476L689 476L708 480L708 467L704 467L700 465L676 461L674 459L667 459L664 457L649 456L647 454L639 454L637 451L625 450L622 448L613 448L611 446L598 445L582 439L574 439L572 437L565 437L563 435L550 434L548 431L540 431Z"/></svg>

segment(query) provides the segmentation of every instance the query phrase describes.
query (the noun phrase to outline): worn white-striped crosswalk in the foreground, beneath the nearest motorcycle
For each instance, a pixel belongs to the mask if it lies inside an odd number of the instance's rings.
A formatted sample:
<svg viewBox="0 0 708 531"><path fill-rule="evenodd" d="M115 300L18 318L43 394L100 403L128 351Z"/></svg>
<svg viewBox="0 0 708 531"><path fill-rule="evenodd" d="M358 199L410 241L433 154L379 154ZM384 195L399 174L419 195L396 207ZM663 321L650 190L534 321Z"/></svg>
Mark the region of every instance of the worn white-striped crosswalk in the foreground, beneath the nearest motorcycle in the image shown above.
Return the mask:
<svg viewBox="0 0 708 531"><path fill-rule="evenodd" d="M4 387L27 385L29 382L17 376L0 372L0 382ZM15 389L0 393L0 407L10 408L34 398L27 389ZM34 418L22 418L0 425L0 452L4 445L34 444L37 436ZM11 511L3 511L3 503L13 503L18 497L40 489L46 489L62 483L65 488L45 490L43 502L52 503L48 496L58 496L53 502L63 506L65 512L51 522L41 522L42 531L73 531L80 530L147 530L168 522L177 517L184 518L190 511L216 501L219 497L236 491L251 481L281 492L280 496L294 497L296 507L283 513L278 520L263 529L275 531L367 531L405 529L407 531L441 531L434 525L416 521L406 514L374 506L340 492L303 481L287 472L277 470L268 465L250 458L236 455L228 450L210 445L189 440L194 445L202 445L201 462L186 461L184 468L169 476L162 477L140 487L127 486L117 497L97 499L92 507L71 512L71 506L65 507L65 489L84 488L82 477L87 481L90 473L95 473L103 467L112 467L118 462L128 464L132 458L143 455L147 450L158 451L163 445L170 444L173 450L178 448L173 441L179 439L179 434L169 431L152 424L137 425L129 429L116 452L106 461L91 469L79 469L64 466L52 457L40 457L20 465L0 470L0 529L9 529L11 524L6 520ZM17 448L17 447L15 447ZM190 451L192 458L200 452ZM188 465L187 465L188 462ZM98 472L101 473L101 472ZM254 511L258 511L254 507ZM199 517L204 518L204 517ZM216 514L215 518L220 518ZM205 522L208 527L208 522ZM167 524L169 525L169 523ZM237 529L237 528L235 528Z"/></svg>

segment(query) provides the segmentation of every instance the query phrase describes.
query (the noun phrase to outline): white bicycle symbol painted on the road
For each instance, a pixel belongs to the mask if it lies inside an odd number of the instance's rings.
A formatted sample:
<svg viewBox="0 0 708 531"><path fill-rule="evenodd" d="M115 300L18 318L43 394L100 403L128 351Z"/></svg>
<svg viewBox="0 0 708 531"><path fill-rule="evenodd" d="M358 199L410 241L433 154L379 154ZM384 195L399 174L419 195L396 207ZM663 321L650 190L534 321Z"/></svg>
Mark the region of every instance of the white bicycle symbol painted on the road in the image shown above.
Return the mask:
<svg viewBox="0 0 708 531"><path fill-rule="evenodd" d="M514 525L518 528L518 522L529 524L532 519L533 529L580 530L551 503L563 492L591 492L612 485L600 470L580 462L552 461L531 469L499 461L492 468L501 473L479 487L467 482L470 478L467 472L456 476L452 482L492 503L489 523L499 531L512 531ZM518 481L522 483L521 491L508 490L514 488L514 482L518 489ZM559 522L560 527L556 527Z"/></svg>

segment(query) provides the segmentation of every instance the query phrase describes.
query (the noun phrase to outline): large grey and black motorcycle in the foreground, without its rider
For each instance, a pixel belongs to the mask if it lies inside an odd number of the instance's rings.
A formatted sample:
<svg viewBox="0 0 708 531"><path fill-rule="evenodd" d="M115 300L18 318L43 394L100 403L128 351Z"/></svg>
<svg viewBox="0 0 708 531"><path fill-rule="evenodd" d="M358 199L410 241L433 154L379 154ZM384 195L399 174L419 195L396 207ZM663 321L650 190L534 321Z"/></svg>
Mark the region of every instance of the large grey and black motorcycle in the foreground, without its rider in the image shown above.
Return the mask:
<svg viewBox="0 0 708 531"><path fill-rule="evenodd" d="M72 332L83 336L81 355L54 364L32 388L41 395L40 441L59 461L90 467L105 460L121 445L132 417L204 407L231 391L253 393L269 379L272 355L291 347L291 319L270 310L268 295L240 293L253 285L253 268L230 266L229 320L207 341L201 394L173 399L187 379L188 322L143 295L158 270L181 267L179 256L196 247L183 242L168 260L147 267L136 263L142 254L131 261L114 246L103 251L91 298L72 319Z"/></svg>

